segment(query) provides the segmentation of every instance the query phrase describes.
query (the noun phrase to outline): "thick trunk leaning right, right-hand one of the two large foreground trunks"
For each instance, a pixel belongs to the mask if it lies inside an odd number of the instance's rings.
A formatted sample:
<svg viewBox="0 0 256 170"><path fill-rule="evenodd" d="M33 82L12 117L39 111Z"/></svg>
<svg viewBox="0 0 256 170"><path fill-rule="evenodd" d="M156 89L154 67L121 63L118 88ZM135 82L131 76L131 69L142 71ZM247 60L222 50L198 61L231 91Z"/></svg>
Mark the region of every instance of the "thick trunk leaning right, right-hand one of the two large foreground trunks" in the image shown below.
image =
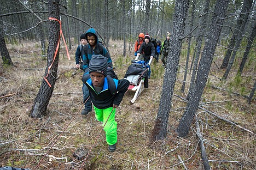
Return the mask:
<svg viewBox="0 0 256 170"><path fill-rule="evenodd" d="M216 2L210 26L211 35L208 36L205 47L203 48L195 86L190 92L188 105L177 128L177 133L180 137L186 137L188 135L192 120L197 111L197 106L199 105L211 68L213 54L216 50L220 32L222 31L222 25L226 16L226 9L228 8L228 1L229 0L217 0Z"/></svg>

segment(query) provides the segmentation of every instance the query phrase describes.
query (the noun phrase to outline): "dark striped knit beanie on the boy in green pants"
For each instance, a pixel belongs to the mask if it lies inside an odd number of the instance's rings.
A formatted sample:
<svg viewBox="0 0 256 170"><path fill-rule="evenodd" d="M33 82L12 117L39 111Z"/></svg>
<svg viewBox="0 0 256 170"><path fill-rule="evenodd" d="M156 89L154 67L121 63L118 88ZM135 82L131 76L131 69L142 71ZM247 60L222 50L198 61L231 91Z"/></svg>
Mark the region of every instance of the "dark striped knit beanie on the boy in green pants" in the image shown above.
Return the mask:
<svg viewBox="0 0 256 170"><path fill-rule="evenodd" d="M89 63L89 74L91 72L98 72L107 76L108 59L102 55L92 55Z"/></svg>

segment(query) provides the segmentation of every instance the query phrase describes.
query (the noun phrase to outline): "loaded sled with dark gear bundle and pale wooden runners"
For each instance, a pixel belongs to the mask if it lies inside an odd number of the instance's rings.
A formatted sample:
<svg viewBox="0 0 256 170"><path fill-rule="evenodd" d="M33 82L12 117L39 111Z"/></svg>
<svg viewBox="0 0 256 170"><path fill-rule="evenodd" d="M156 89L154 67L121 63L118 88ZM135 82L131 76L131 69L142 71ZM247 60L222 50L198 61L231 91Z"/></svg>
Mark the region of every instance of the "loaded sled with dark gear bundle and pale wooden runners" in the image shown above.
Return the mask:
<svg viewBox="0 0 256 170"><path fill-rule="evenodd" d="M151 62L152 58L150 58L148 64L145 64L143 60L138 60L137 56L135 60L132 60L132 64L126 71L124 78L130 82L128 89L132 92L135 92L135 95L130 101L132 104L135 102L144 88L148 88L148 69Z"/></svg>

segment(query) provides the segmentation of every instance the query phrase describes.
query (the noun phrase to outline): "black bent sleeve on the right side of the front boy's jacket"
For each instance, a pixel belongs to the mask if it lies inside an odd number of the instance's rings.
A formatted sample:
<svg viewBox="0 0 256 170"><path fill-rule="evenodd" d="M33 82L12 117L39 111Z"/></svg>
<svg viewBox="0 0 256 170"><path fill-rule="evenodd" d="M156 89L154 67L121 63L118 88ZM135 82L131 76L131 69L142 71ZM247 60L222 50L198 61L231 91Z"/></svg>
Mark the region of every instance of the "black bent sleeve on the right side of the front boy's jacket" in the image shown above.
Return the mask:
<svg viewBox="0 0 256 170"><path fill-rule="evenodd" d="M114 105L120 105L120 102L123 100L125 92L129 87L129 84L130 82L126 79L121 79L118 81L117 94L115 95L115 99L113 101Z"/></svg>

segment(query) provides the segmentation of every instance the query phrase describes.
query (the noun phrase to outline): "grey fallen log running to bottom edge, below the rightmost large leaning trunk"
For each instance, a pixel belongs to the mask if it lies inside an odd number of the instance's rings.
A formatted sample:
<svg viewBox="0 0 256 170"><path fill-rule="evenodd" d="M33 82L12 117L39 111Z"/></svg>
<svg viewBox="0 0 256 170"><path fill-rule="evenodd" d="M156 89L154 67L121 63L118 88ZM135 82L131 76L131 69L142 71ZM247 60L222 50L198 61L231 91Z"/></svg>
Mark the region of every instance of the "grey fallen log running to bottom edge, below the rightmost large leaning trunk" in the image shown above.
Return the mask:
<svg viewBox="0 0 256 170"><path fill-rule="evenodd" d="M208 157L206 155L206 150L205 150L205 145L203 145L203 140L202 140L202 135L200 132L200 127L199 127L199 123L198 123L198 119L196 118L196 135L199 138L199 144L200 144L200 149L201 149L201 155L202 155L202 160L203 160L203 167L205 167L205 169L211 169L211 166L209 165L209 161L208 161Z"/></svg>

